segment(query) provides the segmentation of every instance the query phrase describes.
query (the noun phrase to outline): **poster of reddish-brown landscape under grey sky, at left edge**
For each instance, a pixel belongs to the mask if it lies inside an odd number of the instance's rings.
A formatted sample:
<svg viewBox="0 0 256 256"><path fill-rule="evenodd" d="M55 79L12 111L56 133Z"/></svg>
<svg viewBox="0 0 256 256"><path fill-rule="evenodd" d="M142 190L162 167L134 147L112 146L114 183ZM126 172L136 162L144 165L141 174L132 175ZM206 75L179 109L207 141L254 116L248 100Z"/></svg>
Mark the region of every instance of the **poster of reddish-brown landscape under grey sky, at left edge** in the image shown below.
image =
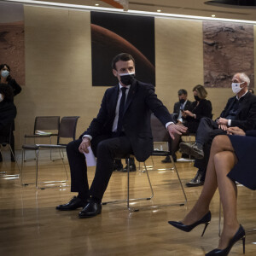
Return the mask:
<svg viewBox="0 0 256 256"><path fill-rule="evenodd" d="M25 85L24 11L22 4L0 3L0 63L8 64L10 75Z"/></svg>

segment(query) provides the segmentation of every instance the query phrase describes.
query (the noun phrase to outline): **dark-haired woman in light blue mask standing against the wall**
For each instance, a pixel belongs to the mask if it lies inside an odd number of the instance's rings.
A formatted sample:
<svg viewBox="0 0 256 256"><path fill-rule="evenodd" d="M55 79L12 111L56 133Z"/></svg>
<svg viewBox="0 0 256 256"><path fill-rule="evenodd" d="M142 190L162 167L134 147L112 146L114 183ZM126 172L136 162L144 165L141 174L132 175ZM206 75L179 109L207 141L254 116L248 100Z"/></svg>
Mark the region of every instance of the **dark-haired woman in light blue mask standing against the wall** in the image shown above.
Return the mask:
<svg viewBox="0 0 256 256"><path fill-rule="evenodd" d="M10 67L7 64L1 64L0 65L0 83L1 84L8 84L9 87L13 90L14 96L20 93L21 87L16 82L15 79L13 79L10 76ZM14 125L14 131L15 131L15 125ZM11 148L13 149L13 152L15 153L15 137L14 133L11 134ZM15 161L13 155L11 154L11 160Z"/></svg>

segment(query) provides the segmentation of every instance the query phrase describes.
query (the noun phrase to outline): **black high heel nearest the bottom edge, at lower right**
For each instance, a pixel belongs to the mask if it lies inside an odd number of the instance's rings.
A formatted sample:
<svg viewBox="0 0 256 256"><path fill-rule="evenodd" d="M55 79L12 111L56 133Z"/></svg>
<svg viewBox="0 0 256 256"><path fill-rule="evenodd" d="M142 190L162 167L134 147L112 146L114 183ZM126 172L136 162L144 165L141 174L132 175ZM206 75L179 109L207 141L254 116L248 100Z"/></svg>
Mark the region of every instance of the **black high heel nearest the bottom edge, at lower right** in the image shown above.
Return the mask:
<svg viewBox="0 0 256 256"><path fill-rule="evenodd" d="M240 225L239 229L236 231L235 236L233 236L229 242L228 247L225 247L223 250L221 249L214 249L211 252L207 253L206 256L227 256L230 253L231 248L236 243L236 241L242 240L242 248L243 248L243 254L245 253L245 230Z"/></svg>

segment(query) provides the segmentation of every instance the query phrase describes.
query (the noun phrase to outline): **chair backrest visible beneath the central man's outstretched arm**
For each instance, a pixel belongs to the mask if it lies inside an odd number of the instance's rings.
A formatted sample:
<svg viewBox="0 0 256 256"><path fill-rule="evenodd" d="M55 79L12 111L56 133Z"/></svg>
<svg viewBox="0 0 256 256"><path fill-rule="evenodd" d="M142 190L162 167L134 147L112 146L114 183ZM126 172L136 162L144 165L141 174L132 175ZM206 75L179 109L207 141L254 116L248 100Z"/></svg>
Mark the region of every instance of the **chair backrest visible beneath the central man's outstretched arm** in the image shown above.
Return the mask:
<svg viewBox="0 0 256 256"><path fill-rule="evenodd" d="M154 142L168 142L170 135L154 114L151 114L151 130Z"/></svg>

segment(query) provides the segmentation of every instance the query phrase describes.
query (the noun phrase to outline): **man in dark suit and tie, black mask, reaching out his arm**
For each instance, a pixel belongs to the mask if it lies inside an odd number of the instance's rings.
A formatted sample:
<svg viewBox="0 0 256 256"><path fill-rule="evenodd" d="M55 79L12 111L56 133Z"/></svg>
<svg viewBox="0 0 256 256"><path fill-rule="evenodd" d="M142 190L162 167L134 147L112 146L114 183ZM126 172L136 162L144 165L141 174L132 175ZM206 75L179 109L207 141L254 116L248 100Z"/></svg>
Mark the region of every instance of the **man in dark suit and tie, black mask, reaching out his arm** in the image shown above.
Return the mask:
<svg viewBox="0 0 256 256"><path fill-rule="evenodd" d="M102 212L102 197L113 172L114 158L134 154L138 161L148 159L153 151L151 112L166 125L171 137L186 131L182 125L172 122L171 114L154 94L154 87L134 79L135 61L131 55L115 56L112 68L119 84L106 90L97 117L79 140L67 145L71 191L79 195L56 209L69 211L84 207L79 218ZM89 189L84 153L88 153L90 146L97 163Z"/></svg>

